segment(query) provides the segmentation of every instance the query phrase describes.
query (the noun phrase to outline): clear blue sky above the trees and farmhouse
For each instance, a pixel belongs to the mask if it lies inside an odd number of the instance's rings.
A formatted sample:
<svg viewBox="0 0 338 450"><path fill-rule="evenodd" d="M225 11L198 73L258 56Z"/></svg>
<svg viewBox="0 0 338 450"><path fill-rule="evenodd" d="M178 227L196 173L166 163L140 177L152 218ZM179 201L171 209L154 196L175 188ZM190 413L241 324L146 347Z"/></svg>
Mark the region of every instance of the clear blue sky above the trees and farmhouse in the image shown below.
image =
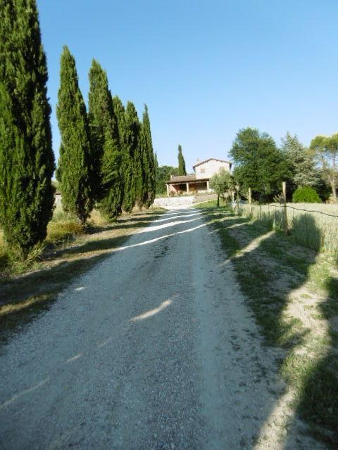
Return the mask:
<svg viewBox="0 0 338 450"><path fill-rule="evenodd" d="M337 0L37 0L49 68L54 151L62 46L75 56L87 103L96 58L112 94L149 107L160 165L180 143L196 158L227 158L237 131L258 127L280 145L338 131Z"/></svg>

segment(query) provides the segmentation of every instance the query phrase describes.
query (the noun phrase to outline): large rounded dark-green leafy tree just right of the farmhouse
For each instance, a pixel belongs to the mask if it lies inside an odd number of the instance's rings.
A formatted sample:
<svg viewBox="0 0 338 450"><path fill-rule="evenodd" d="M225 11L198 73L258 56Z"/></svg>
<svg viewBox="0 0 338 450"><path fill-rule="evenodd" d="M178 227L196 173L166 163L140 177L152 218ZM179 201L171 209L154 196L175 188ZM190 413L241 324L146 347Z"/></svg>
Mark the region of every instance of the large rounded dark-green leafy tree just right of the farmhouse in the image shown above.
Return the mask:
<svg viewBox="0 0 338 450"><path fill-rule="evenodd" d="M256 128L238 131L230 155L236 167L234 178L242 189L251 188L253 198L268 200L280 192L282 181L289 181L289 162L275 141Z"/></svg>

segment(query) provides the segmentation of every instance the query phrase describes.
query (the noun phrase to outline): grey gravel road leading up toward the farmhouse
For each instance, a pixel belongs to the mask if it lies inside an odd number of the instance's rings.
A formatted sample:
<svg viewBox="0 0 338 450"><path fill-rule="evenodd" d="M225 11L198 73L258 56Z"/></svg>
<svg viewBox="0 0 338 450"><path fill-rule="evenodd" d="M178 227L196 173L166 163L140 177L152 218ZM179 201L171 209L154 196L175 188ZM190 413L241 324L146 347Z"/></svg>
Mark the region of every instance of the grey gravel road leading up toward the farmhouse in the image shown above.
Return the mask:
<svg viewBox="0 0 338 450"><path fill-rule="evenodd" d="M256 448L283 386L222 253L168 212L79 276L0 348L0 448Z"/></svg>

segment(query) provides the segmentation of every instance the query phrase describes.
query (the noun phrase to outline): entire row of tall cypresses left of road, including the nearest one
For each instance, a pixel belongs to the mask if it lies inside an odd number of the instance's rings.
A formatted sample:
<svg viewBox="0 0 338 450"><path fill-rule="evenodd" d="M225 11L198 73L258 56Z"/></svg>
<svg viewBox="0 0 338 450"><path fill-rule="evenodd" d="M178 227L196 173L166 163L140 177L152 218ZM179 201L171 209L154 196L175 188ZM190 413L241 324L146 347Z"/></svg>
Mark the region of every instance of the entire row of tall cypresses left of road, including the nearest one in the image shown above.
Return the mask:
<svg viewBox="0 0 338 450"><path fill-rule="evenodd" d="M35 0L0 0L0 225L13 255L25 258L46 238L54 210L48 72ZM63 207L82 224L96 205L109 218L155 196L155 160L148 110L142 121L108 89L96 60L89 71L89 110L75 59L61 55L56 172Z"/></svg>

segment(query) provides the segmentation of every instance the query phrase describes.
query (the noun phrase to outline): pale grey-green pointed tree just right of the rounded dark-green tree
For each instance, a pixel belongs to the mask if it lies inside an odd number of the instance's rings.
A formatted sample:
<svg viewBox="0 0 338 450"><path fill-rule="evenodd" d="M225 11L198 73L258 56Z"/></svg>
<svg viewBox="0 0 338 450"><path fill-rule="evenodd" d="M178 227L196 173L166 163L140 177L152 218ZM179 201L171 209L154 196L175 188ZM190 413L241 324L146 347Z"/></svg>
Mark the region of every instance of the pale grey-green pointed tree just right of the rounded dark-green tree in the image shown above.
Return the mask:
<svg viewBox="0 0 338 450"><path fill-rule="evenodd" d="M313 152L304 147L297 136L291 136L289 133L282 139L282 144L284 155L289 161L294 186L315 186L319 175Z"/></svg>

